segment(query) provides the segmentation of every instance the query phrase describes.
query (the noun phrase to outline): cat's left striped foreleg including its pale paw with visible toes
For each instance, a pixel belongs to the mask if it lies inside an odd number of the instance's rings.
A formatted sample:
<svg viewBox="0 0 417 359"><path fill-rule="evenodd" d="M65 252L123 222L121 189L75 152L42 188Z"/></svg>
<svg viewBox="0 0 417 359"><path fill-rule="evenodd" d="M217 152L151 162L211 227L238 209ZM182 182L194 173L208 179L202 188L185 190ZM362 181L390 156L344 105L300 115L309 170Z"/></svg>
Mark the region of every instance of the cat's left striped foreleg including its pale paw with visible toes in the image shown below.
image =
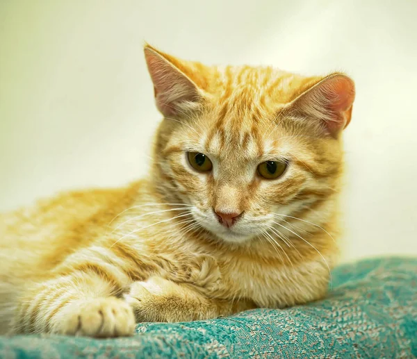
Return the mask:
<svg viewBox="0 0 417 359"><path fill-rule="evenodd" d="M18 303L13 333L132 335L136 324L132 308L116 297L126 281L121 271L99 272L91 265L33 285Z"/></svg>

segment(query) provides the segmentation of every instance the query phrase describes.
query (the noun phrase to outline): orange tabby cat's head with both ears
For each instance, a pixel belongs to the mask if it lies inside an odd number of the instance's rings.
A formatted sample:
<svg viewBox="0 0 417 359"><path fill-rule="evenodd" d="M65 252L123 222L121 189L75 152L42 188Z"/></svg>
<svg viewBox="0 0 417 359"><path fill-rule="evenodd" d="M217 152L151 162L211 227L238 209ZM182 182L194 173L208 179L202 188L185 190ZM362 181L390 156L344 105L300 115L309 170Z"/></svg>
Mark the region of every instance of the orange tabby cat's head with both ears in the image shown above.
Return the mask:
<svg viewBox="0 0 417 359"><path fill-rule="evenodd" d="M209 67L148 45L145 58L164 116L154 176L167 201L191 205L195 222L234 243L281 232L291 217L329 219L354 101L349 77Z"/></svg>

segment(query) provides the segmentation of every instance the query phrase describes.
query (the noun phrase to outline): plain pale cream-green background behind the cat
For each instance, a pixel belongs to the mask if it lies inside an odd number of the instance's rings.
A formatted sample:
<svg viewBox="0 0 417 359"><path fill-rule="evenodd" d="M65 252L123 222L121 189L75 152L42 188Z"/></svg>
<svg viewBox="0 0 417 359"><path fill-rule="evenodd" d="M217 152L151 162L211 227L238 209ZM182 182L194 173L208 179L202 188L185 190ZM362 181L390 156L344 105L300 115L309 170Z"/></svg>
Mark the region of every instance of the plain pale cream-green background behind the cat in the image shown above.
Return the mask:
<svg viewBox="0 0 417 359"><path fill-rule="evenodd" d="M208 63L344 70L343 259L417 256L417 1L0 0L0 210L146 172L142 44Z"/></svg>

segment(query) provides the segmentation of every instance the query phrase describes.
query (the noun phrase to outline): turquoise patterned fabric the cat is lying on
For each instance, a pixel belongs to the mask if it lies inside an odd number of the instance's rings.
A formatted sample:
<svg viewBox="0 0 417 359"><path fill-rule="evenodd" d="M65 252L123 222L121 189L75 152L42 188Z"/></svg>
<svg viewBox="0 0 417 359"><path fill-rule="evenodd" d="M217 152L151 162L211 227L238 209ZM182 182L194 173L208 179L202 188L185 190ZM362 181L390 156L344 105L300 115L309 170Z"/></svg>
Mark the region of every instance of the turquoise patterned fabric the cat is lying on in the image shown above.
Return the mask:
<svg viewBox="0 0 417 359"><path fill-rule="evenodd" d="M0 358L416 358L417 258L334 270L327 299L202 322L137 326L129 338L1 337Z"/></svg>

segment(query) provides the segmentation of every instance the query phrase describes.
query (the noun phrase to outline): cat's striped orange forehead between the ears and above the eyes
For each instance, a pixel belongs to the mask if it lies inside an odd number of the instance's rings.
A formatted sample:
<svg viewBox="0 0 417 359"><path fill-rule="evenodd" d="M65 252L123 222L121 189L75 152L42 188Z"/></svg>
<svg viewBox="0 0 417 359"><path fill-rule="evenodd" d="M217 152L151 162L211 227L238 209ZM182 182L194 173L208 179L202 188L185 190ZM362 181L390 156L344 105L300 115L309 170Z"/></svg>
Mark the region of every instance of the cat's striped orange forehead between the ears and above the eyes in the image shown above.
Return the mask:
<svg viewBox="0 0 417 359"><path fill-rule="evenodd" d="M300 76L272 67L229 66L216 72L205 110L186 129L190 147L218 158L279 157L277 138L286 135L277 126L279 110L294 97Z"/></svg>

